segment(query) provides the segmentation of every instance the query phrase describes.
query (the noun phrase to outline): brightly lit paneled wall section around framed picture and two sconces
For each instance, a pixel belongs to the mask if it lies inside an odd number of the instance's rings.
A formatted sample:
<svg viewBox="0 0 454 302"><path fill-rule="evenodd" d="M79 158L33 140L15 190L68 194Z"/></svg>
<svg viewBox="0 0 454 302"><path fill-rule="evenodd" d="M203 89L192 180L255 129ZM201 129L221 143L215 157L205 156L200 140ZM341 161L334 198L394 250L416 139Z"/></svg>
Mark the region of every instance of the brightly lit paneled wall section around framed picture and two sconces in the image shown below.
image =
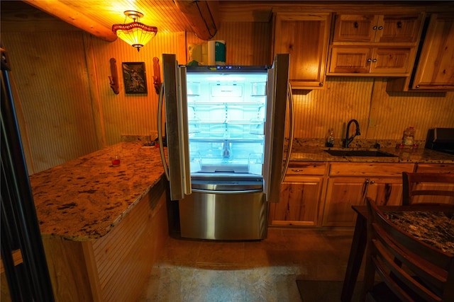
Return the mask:
<svg viewBox="0 0 454 302"><path fill-rule="evenodd" d="M99 94L99 107L102 109L101 123L104 125L106 144L116 144L121 135L150 135L157 130L157 102L159 95L153 86L153 58L161 59L162 54L177 54L177 59L185 64L184 33L160 33L142 47L140 52L122 40L105 42L92 38L93 62ZM183 52L179 51L183 50ZM116 59L120 93L114 94L109 86L110 58ZM123 62L145 62L148 93L126 94L123 83ZM162 65L161 72L162 72Z"/></svg>

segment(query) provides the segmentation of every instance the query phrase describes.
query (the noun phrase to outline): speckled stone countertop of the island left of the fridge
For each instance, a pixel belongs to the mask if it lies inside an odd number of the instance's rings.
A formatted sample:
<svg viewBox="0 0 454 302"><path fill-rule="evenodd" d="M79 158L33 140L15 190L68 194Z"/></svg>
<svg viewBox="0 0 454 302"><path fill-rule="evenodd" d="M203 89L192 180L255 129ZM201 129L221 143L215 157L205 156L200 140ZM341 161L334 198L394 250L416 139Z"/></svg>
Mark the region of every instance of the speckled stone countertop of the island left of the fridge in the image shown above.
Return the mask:
<svg viewBox="0 0 454 302"><path fill-rule="evenodd" d="M111 165L119 153L121 164ZM46 236L105 236L163 176L157 148L121 143L31 175L40 230Z"/></svg>

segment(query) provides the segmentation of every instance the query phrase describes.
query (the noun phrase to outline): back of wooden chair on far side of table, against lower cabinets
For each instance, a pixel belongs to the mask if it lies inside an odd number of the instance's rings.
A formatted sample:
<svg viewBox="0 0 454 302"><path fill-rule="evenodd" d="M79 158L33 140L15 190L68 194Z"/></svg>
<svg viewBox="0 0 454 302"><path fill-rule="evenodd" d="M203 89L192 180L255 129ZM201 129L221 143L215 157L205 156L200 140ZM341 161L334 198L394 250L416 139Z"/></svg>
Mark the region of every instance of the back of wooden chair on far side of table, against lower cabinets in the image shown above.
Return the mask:
<svg viewBox="0 0 454 302"><path fill-rule="evenodd" d="M454 204L454 174L402 172L402 185L403 205L434 202Z"/></svg>

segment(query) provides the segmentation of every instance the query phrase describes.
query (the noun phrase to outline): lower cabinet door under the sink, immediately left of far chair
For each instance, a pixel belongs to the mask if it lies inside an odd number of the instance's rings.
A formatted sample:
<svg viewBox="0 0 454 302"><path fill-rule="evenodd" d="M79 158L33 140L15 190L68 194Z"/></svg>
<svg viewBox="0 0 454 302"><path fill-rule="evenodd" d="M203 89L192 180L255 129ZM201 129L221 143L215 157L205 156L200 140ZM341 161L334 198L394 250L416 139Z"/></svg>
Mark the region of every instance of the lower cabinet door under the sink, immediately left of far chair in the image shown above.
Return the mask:
<svg viewBox="0 0 454 302"><path fill-rule="evenodd" d="M402 178L370 178L367 197L380 206L402 204Z"/></svg>

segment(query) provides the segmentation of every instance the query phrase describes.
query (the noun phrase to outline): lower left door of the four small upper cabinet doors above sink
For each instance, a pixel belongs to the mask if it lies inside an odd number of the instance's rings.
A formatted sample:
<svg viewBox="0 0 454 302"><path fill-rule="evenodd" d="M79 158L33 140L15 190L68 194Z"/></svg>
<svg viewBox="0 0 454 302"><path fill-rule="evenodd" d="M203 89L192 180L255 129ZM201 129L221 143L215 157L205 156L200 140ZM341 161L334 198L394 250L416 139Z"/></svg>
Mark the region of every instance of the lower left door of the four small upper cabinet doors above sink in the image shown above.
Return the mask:
<svg viewBox="0 0 454 302"><path fill-rule="evenodd" d="M367 46L332 46L328 74L368 74L371 51Z"/></svg>

